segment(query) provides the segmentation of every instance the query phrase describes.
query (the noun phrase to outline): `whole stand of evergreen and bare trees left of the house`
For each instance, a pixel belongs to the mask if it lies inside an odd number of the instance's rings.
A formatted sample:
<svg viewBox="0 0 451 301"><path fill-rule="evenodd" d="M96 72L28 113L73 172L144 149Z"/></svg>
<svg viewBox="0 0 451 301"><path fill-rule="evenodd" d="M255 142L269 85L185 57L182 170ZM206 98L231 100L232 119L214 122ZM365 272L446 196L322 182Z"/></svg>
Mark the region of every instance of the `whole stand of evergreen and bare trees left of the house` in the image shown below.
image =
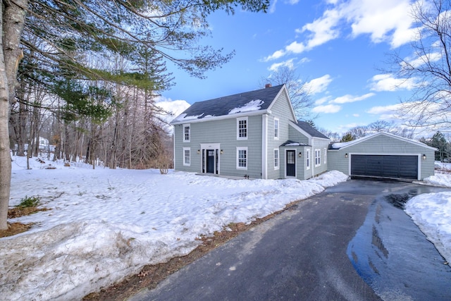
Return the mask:
<svg viewBox="0 0 451 301"><path fill-rule="evenodd" d="M107 166L152 166L168 144L166 62L202 78L233 57L200 43L207 16L266 12L268 0L4 0L0 37L0 230L8 228L11 147ZM10 139L11 138L11 139ZM11 141L10 141L11 140ZM94 164L93 164L94 166Z"/></svg>

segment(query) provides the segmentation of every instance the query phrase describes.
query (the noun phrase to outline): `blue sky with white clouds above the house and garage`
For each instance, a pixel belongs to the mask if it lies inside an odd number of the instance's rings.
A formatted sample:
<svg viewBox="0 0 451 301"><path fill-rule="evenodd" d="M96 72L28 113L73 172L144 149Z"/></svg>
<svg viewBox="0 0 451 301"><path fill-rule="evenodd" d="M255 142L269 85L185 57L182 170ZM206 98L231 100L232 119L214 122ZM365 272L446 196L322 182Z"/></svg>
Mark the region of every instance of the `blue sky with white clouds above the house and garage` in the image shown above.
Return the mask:
<svg viewBox="0 0 451 301"><path fill-rule="evenodd" d="M309 85L318 127L345 133L379 119L391 121L393 109L410 96L413 85L400 86L381 69L390 66L388 53L409 49L411 3L273 0L268 13L214 13L211 37L203 42L235 50L235 56L203 80L168 66L176 85L162 99L181 109L180 104L257 90L271 70L289 66Z"/></svg>

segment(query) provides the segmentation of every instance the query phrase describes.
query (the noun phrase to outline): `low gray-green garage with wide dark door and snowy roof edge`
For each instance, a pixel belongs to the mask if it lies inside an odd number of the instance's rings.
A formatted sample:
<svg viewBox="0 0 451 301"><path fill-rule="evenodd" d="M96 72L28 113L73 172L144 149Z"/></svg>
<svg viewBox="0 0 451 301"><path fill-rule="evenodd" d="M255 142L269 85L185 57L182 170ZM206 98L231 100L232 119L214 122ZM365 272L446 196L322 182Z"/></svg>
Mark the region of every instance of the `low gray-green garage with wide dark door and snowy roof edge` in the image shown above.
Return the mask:
<svg viewBox="0 0 451 301"><path fill-rule="evenodd" d="M328 149L328 170L349 176L422 180L434 174L435 148L390 133L375 133Z"/></svg>

